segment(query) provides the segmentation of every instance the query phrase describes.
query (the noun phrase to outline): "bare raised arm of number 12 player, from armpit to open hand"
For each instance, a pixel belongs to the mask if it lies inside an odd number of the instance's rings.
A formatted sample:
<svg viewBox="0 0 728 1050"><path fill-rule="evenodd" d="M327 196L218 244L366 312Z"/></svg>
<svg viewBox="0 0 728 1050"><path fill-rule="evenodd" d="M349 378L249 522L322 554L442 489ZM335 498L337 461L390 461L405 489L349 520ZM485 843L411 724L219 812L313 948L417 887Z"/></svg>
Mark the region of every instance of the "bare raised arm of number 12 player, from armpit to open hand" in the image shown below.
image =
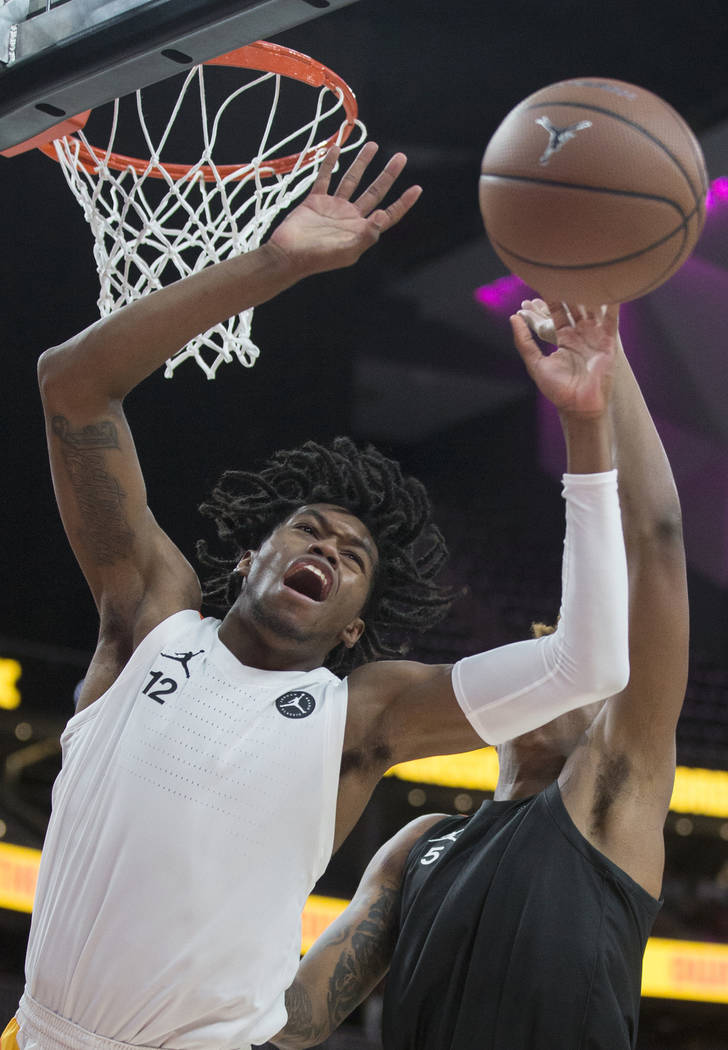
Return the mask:
<svg viewBox="0 0 728 1050"><path fill-rule="evenodd" d="M116 677L165 616L197 608L191 566L158 526L122 402L192 336L310 274L350 266L419 195L379 205L404 167L398 153L358 196L368 144L330 192L331 150L306 200L262 248L210 267L98 321L39 362L58 505L100 613L100 650L81 707Z"/></svg>

